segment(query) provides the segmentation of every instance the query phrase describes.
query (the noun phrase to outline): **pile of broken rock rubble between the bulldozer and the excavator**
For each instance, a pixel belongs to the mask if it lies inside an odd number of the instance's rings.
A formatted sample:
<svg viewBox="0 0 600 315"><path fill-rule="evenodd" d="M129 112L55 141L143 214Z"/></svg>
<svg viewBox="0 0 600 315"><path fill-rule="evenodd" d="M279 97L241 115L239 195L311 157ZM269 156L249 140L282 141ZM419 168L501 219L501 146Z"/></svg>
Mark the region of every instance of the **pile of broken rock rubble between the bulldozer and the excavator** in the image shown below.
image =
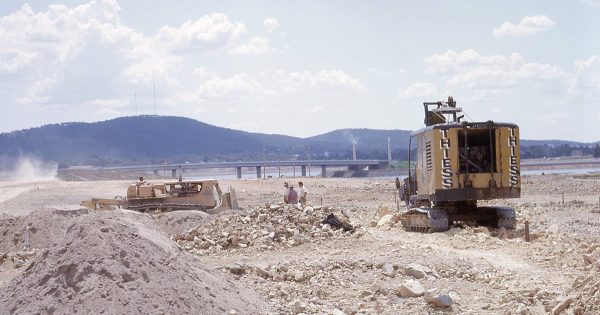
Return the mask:
<svg viewBox="0 0 600 315"><path fill-rule="evenodd" d="M344 228L324 223L333 214ZM350 220L346 211L328 206L265 205L243 212L214 217L184 234L171 236L194 254L259 246L293 247L332 237L361 236L364 230Z"/></svg>

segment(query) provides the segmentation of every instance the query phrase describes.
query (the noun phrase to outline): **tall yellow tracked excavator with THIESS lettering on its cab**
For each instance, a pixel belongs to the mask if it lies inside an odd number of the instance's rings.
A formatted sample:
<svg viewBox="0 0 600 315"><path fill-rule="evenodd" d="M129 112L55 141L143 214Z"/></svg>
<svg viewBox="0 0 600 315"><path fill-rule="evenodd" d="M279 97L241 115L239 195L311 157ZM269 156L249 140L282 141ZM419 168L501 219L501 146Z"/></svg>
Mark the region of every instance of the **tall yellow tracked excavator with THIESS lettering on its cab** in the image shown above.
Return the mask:
<svg viewBox="0 0 600 315"><path fill-rule="evenodd" d="M425 128L411 134L412 166L398 187L408 208L401 215L404 229L445 231L452 222L514 229L514 209L477 201L521 196L519 127L461 121L462 109L452 97L423 105Z"/></svg>

